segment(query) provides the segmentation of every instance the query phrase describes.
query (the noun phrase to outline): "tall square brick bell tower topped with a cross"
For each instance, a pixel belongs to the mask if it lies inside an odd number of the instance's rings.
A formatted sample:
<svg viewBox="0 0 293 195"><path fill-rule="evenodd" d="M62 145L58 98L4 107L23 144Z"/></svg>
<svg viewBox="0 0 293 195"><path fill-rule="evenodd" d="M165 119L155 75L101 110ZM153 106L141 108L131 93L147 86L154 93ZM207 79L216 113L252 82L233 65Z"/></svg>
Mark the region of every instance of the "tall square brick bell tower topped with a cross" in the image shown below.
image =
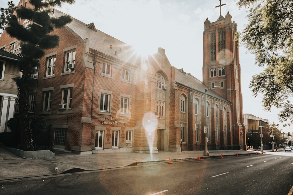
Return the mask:
<svg viewBox="0 0 293 195"><path fill-rule="evenodd" d="M224 5L220 0L220 5L216 6L220 8L216 21L211 23L207 18L204 22L202 79L208 88L219 86L214 91L232 104L226 108L231 119L231 127L228 127L231 137L227 144L240 145L245 149L237 24L231 21L229 11L225 17L222 16Z"/></svg>

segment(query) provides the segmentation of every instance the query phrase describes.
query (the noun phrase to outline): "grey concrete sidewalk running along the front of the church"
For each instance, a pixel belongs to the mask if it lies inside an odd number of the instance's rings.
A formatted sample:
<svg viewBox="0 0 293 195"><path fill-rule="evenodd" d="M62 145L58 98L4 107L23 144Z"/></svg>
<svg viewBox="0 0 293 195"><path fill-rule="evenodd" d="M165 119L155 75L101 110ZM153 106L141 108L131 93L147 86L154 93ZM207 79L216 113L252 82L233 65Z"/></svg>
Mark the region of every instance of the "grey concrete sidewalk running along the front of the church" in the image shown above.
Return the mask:
<svg viewBox="0 0 293 195"><path fill-rule="evenodd" d="M171 163L175 161L200 160L205 158L220 158L256 154L256 150L222 150L209 151L209 156L203 156L203 151L150 153L96 153L79 155L56 151L55 158L26 159L0 147L0 181L26 177L55 175L67 172L102 170L130 165L150 163Z"/></svg>

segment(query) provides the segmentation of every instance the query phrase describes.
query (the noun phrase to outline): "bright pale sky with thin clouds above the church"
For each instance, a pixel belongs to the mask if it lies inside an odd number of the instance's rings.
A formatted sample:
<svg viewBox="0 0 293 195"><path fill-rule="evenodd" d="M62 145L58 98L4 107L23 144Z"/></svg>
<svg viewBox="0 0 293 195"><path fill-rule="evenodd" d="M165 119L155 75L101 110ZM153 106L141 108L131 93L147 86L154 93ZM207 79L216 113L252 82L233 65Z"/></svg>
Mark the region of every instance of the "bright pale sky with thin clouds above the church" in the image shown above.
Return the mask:
<svg viewBox="0 0 293 195"><path fill-rule="evenodd" d="M7 7L7 2L0 0L0 7ZM13 2L18 4L18 0ZM202 80L204 22L207 18L210 22L217 20L220 10L215 6L219 3L219 0L76 0L56 9L86 24L93 22L98 30L137 46L142 52L155 54L162 47L171 65ZM222 6L222 15L225 17L229 11L241 32L248 24L245 8L239 10L234 0L222 0L222 4L226 4ZM280 109L264 111L262 96L254 98L248 87L251 77L263 68L255 65L254 55L248 54L243 45L239 51L243 113L282 127L277 117Z"/></svg>

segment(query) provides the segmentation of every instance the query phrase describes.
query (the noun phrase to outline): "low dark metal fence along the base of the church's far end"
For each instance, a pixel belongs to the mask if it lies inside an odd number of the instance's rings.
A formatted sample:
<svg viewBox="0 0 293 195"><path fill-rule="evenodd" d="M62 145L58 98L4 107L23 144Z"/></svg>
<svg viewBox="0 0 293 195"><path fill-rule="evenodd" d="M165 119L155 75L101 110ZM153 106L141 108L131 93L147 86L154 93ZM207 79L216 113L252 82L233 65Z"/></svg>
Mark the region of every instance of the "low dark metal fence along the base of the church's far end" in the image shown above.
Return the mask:
<svg viewBox="0 0 293 195"><path fill-rule="evenodd" d="M205 150L204 144L180 144L180 146L181 146L181 152ZM208 144L207 150L240 150L240 146Z"/></svg>

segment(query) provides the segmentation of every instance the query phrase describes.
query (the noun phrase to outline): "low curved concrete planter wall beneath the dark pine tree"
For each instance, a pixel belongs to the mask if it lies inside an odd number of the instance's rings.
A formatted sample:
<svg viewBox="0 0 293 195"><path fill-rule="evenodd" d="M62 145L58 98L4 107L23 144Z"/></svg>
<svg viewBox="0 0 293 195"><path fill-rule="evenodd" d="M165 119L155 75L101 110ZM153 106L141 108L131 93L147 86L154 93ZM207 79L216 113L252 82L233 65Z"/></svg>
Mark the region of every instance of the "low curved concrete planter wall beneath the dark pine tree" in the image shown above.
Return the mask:
<svg viewBox="0 0 293 195"><path fill-rule="evenodd" d="M35 150L35 151L23 151L16 148L5 147L6 150L20 156L22 158L54 158L55 153L50 150Z"/></svg>

